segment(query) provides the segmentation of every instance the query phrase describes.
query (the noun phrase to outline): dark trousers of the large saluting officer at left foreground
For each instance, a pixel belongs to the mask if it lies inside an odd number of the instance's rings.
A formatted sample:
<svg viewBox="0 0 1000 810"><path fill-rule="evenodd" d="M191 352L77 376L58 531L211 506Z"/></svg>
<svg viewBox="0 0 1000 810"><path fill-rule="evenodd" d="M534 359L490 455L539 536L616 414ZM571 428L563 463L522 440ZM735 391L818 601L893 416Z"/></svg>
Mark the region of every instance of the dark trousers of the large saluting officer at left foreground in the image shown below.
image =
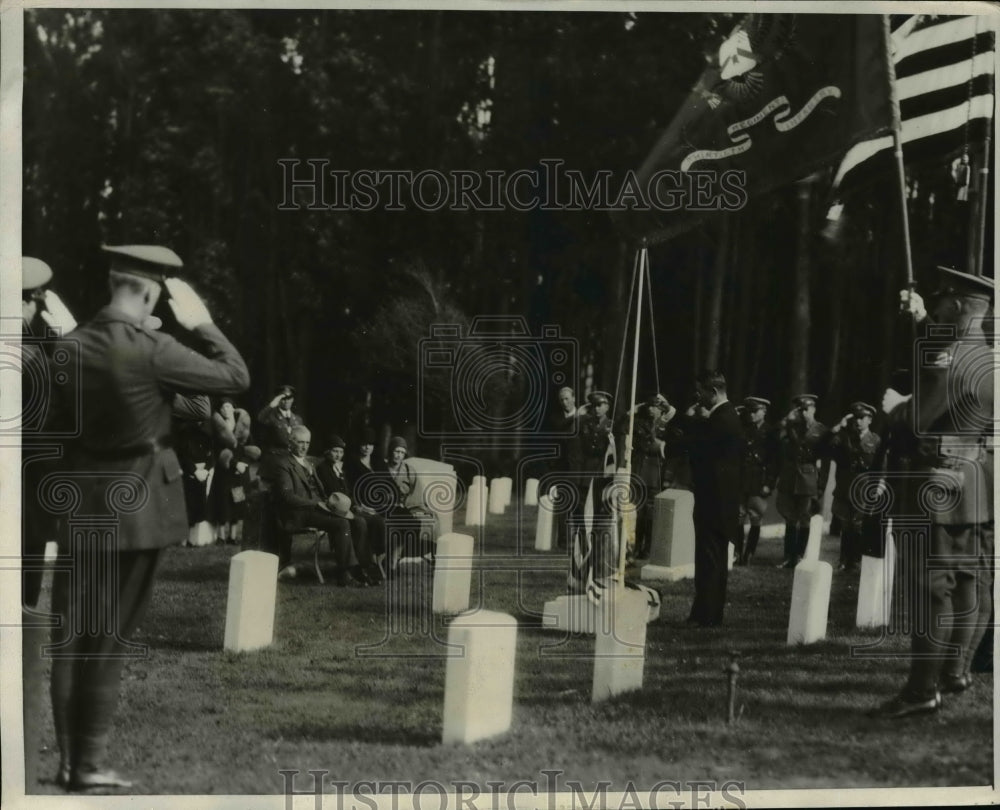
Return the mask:
<svg viewBox="0 0 1000 810"><path fill-rule="evenodd" d="M159 549L101 551L78 544L60 553L52 583L52 716L60 769L106 766L108 736L126 657L126 645L145 615ZM68 774L67 774L68 775Z"/></svg>

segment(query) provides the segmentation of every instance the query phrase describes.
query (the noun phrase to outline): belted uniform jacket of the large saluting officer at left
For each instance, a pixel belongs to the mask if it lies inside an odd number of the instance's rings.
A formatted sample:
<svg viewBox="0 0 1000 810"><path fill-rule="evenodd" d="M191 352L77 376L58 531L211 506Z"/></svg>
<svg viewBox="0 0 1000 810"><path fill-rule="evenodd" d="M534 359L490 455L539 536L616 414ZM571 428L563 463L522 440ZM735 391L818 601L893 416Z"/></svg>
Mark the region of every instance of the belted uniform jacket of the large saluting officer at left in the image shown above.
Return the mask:
<svg viewBox="0 0 1000 810"><path fill-rule="evenodd" d="M79 514L118 518L118 549L154 549L187 537L184 489L170 446L176 394L239 394L250 374L213 324L194 330L204 354L147 329L113 306L73 332L80 377L60 392L79 409L79 438L67 448L81 483Z"/></svg>

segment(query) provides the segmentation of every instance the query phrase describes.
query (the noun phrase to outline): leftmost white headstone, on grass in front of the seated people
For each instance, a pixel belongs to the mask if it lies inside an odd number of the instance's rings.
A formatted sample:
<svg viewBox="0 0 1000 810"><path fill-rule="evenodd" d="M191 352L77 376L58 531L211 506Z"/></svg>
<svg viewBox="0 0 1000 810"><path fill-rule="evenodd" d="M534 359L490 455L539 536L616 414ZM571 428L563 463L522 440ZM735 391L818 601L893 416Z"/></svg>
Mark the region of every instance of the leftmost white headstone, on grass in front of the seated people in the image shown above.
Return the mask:
<svg viewBox="0 0 1000 810"><path fill-rule="evenodd" d="M241 551L229 563L229 597L223 647L244 652L267 647L274 637L278 558L265 551Z"/></svg>

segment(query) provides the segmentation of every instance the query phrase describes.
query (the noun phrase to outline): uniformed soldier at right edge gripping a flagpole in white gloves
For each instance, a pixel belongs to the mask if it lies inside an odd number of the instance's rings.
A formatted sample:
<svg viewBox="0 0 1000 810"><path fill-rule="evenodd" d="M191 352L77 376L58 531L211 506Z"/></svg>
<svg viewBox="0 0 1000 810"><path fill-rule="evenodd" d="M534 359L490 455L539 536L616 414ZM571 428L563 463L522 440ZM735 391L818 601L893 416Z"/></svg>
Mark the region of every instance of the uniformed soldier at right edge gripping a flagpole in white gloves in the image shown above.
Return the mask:
<svg viewBox="0 0 1000 810"><path fill-rule="evenodd" d="M899 555L911 631L906 685L871 714L899 718L935 712L941 693L972 685L970 665L992 607L993 438L996 359L983 331L994 282L939 267L930 317L916 293L901 293L917 321L931 321L940 335L915 352L914 393L892 388L882 410L894 430L909 438L907 475L894 495L894 514L921 515L927 532L915 531ZM905 485L905 486L904 486ZM929 535L929 536L928 536Z"/></svg>

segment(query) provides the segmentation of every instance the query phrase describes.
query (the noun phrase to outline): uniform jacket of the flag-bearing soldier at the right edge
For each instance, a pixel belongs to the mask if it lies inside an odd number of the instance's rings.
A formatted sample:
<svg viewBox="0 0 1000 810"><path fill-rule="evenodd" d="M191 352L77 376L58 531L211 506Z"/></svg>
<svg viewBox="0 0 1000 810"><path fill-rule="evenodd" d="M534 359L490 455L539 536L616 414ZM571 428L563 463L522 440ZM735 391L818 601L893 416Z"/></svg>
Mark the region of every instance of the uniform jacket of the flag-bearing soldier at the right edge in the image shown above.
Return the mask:
<svg viewBox="0 0 1000 810"><path fill-rule="evenodd" d="M990 443L996 360L980 334L924 352L913 397L888 415L915 448L895 514L967 525L993 520ZM933 483L939 494L921 490ZM940 493L944 493L941 495Z"/></svg>

